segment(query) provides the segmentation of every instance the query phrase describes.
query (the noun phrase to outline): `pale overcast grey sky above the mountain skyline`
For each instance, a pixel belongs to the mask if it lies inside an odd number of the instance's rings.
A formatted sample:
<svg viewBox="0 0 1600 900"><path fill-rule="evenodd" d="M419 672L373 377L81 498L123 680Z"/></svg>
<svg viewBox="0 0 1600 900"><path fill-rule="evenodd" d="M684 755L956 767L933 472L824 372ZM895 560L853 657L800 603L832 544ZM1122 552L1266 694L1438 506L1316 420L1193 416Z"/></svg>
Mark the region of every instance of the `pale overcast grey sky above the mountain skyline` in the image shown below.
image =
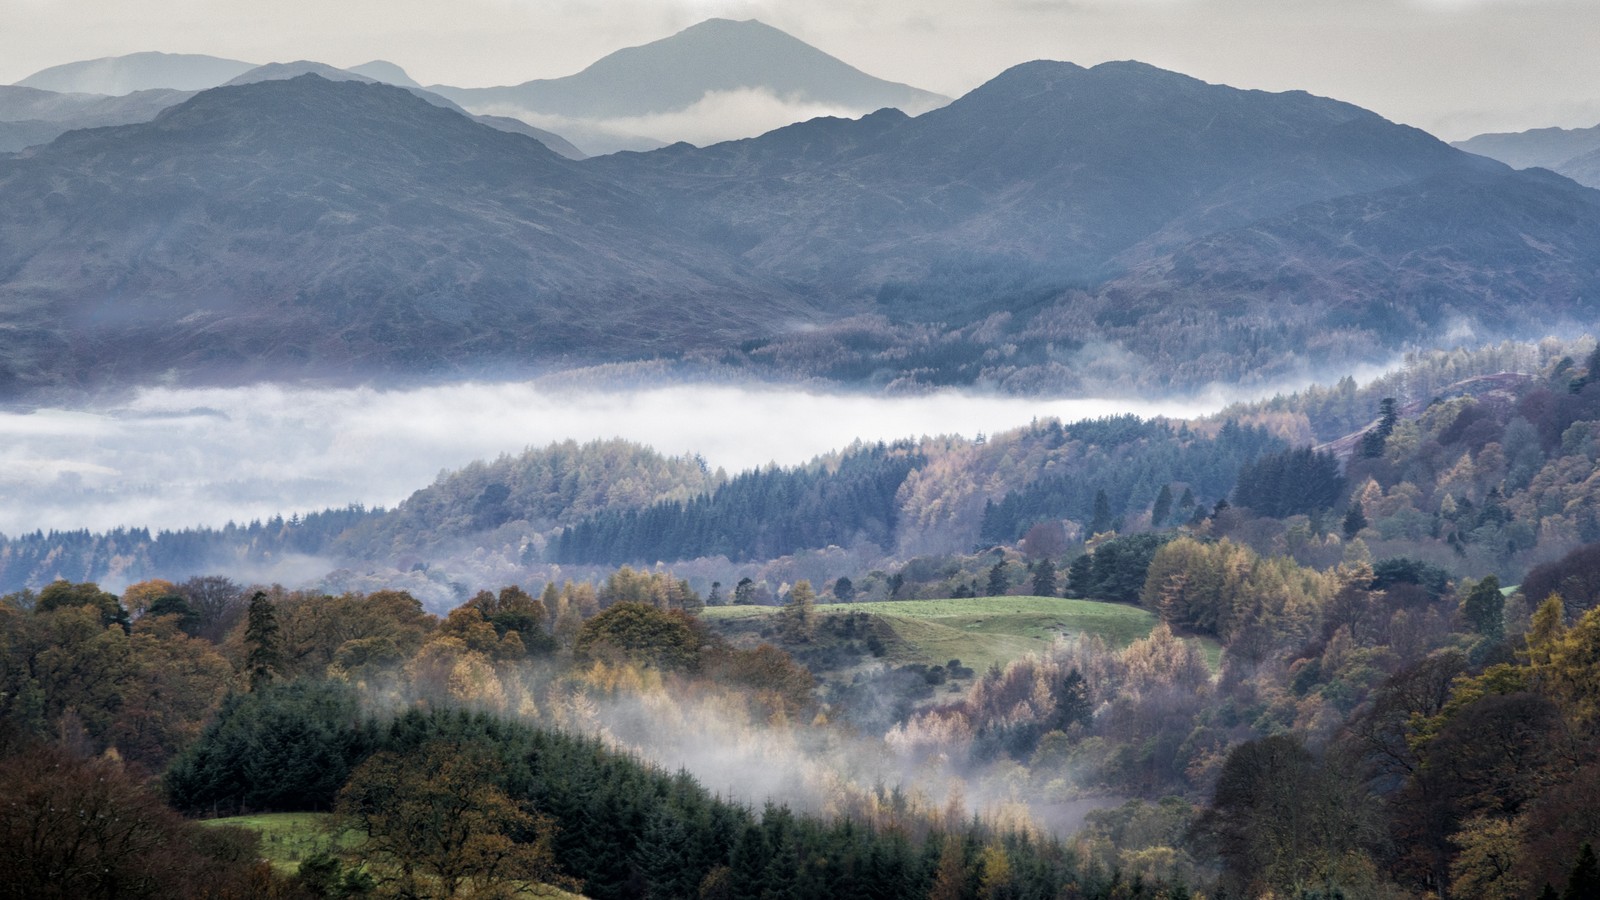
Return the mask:
<svg viewBox="0 0 1600 900"><path fill-rule="evenodd" d="M1600 0L0 0L0 83L162 50L382 58L422 83L504 85L714 16L950 96L1027 59L1141 59L1346 99L1446 139L1600 122Z"/></svg>

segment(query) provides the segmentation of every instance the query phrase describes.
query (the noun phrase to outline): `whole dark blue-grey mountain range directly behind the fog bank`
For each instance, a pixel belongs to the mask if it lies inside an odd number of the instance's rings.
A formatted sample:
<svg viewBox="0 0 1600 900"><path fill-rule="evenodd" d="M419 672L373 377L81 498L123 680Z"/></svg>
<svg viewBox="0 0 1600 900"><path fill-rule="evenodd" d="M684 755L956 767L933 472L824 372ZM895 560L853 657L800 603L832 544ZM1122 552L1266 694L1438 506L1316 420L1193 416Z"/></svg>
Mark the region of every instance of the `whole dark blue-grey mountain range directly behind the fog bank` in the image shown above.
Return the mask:
<svg viewBox="0 0 1600 900"><path fill-rule="evenodd" d="M1197 384L1587 325L1597 247L1600 192L1573 181L1138 62L589 160L304 74L0 160L0 376L701 354L1029 389L1093 352Z"/></svg>

